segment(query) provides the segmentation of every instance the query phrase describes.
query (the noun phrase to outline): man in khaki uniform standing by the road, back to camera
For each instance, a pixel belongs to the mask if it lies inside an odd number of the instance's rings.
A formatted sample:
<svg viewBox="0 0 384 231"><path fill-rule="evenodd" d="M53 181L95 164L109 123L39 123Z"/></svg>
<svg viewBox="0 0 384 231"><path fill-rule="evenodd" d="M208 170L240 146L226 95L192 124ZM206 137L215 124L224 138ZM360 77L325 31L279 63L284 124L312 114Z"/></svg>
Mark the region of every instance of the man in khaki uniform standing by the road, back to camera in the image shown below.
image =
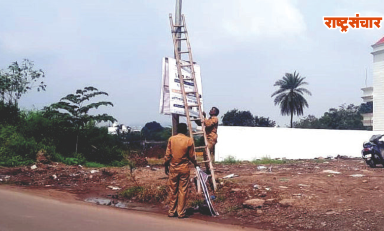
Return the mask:
<svg viewBox="0 0 384 231"><path fill-rule="evenodd" d="M190 179L189 163L196 167L194 144L192 138L186 136L187 124L177 125L177 135L168 140L165 153L165 174L168 175L169 217L186 218L187 192Z"/></svg>

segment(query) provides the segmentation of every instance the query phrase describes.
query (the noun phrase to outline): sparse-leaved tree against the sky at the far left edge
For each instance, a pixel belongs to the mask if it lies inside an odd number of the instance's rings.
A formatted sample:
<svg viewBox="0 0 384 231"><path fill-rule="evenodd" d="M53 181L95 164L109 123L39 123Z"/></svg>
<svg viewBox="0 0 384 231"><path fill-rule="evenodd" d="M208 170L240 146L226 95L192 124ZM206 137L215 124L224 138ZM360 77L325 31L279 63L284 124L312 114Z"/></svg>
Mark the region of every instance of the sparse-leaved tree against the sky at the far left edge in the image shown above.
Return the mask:
<svg viewBox="0 0 384 231"><path fill-rule="evenodd" d="M0 71L0 97L2 102L17 105L21 96L32 88L37 91L47 87L42 78L43 70L35 70L33 62L24 59L19 65L13 62L7 69Z"/></svg>

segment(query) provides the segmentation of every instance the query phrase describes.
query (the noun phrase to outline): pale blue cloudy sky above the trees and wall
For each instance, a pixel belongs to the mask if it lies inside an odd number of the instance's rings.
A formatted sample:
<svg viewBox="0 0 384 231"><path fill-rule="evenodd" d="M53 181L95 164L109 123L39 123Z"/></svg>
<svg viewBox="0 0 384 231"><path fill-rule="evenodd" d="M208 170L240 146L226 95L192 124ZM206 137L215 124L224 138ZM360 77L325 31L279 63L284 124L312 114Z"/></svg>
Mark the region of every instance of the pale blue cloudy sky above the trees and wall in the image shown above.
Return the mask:
<svg viewBox="0 0 384 231"><path fill-rule="evenodd" d="M140 126L159 114L161 58L173 57L168 13L175 0L1 0L0 69L29 58L46 73L45 92L20 106L41 109L94 86L114 107L100 110ZM205 107L233 108L289 124L270 97L284 73L307 77L304 114L360 104L372 84L372 48L381 29L329 30L323 16L384 16L381 0L183 0L193 58L201 65ZM222 115L223 115L222 113ZM294 118L295 120L298 117Z"/></svg>

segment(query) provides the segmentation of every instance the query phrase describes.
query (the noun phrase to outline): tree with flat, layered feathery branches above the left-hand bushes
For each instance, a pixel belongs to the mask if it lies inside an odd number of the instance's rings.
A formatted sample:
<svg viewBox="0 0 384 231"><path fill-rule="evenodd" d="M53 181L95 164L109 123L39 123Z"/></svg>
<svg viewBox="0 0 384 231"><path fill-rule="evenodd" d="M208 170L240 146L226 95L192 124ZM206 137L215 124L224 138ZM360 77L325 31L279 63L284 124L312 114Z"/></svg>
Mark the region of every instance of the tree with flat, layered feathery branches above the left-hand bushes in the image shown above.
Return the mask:
<svg viewBox="0 0 384 231"><path fill-rule="evenodd" d="M107 114L102 115L89 115L91 109L97 109L100 106L112 106L113 104L108 101L100 101L96 103L85 104L86 101L94 98L98 95L108 95L103 91L98 91L95 87L84 87L84 89L76 90L75 94L68 94L63 97L59 102L51 104L49 107L45 107L45 115L49 117L58 117L69 121L77 129L76 138L76 153L79 142L79 132L84 126L91 122L114 122L116 119Z"/></svg>

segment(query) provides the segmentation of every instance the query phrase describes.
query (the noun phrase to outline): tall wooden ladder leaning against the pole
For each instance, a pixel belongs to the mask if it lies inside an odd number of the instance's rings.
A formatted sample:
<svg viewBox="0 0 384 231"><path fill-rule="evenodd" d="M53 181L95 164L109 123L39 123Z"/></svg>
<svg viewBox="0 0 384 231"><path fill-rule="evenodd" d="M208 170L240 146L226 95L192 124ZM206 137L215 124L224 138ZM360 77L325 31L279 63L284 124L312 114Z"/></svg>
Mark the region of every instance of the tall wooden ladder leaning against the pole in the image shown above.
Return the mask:
<svg viewBox="0 0 384 231"><path fill-rule="evenodd" d="M193 68L191 44L190 44L190 40L189 40L189 36L188 36L187 27L185 24L184 14L181 17L182 17L182 22L181 22L182 25L174 25L173 19L172 19L172 14L169 14L169 22L171 25L171 32L172 32L172 39L173 39L173 45L174 45L174 51L175 51L177 73L178 73L179 78L180 78L180 87L181 87L181 92L183 95L183 102L184 102L185 114L187 117L187 124L188 124L188 128L190 131L190 137L192 138L193 142L194 142L194 139L193 139L194 136L197 136L197 135L200 135L200 136L203 135L204 136L204 146L197 146L197 147L195 146L195 148L194 148L195 149L195 157L196 157L196 150L201 150L201 149L205 150L205 152L203 154L204 161L199 161L197 163L204 163L205 164L207 172L210 173L209 176L212 180L213 188L216 191L217 187L216 187L215 173L214 173L214 169L213 169L213 165L212 165L212 161L211 161L211 155L210 155L209 148L207 145L208 141L207 141L207 135L205 134L205 126L204 126L204 123L202 122L204 118L203 118L202 111L201 111L200 95L199 95L199 92L197 89L197 84L195 81L195 73L194 73L194 68ZM182 35L184 35L184 37ZM179 51L178 50L178 43L179 42L181 43L182 41L186 42L188 51ZM187 60L181 60L181 56L183 54L184 55L188 54ZM187 67L191 70L191 78L184 78L183 77L181 70L184 67ZM185 91L184 81L192 81L194 84L194 90L193 91ZM197 100L197 104L195 104L195 105L188 104L187 95L195 96L196 100ZM197 118L190 116L189 108L191 109L194 107L198 108L199 116ZM202 127L201 132L193 132L192 131L192 121L201 121L201 127ZM199 177L199 174L197 173L197 171L196 171L196 175L197 175L197 177ZM197 183L197 189L198 189L198 192L200 193L201 188L200 188L199 183Z"/></svg>

